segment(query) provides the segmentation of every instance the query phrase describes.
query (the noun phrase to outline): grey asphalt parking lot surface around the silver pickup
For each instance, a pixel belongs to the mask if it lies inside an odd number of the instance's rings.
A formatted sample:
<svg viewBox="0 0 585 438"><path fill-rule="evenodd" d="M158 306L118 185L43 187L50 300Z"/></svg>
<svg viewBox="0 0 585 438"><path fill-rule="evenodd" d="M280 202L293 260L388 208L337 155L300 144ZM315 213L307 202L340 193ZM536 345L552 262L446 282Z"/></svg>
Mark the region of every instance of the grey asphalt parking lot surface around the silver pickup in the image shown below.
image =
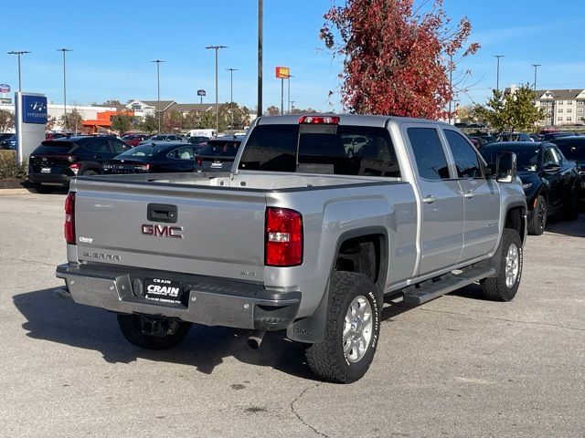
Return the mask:
<svg viewBox="0 0 585 438"><path fill-rule="evenodd" d="M366 377L335 385L278 334L249 351L196 326L145 351L114 315L58 300L63 201L0 196L0 436L585 436L585 214L528 237L511 303L472 286L388 304Z"/></svg>

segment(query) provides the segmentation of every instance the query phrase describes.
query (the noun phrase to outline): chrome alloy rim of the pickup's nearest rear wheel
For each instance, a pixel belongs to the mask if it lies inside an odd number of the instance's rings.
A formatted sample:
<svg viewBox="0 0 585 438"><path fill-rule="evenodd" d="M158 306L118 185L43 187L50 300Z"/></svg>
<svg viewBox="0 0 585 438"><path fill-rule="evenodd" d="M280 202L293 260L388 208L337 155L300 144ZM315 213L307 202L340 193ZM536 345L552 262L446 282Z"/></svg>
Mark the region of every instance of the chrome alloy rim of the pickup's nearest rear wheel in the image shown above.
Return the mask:
<svg viewBox="0 0 585 438"><path fill-rule="evenodd" d="M372 307L367 297L359 295L347 308L343 342L346 358L359 362L366 354L372 339Z"/></svg>

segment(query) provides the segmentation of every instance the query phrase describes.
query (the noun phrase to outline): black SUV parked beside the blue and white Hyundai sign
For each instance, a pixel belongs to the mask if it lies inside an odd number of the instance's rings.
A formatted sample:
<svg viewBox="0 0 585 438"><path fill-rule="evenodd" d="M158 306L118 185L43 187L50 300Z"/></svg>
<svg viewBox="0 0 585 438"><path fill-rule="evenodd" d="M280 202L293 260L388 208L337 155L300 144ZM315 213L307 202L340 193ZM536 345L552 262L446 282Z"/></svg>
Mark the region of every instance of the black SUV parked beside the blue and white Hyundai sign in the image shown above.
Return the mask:
<svg viewBox="0 0 585 438"><path fill-rule="evenodd" d="M40 143L28 158L28 181L37 191L69 185L76 175L101 173L101 164L130 149L115 137L77 136Z"/></svg>

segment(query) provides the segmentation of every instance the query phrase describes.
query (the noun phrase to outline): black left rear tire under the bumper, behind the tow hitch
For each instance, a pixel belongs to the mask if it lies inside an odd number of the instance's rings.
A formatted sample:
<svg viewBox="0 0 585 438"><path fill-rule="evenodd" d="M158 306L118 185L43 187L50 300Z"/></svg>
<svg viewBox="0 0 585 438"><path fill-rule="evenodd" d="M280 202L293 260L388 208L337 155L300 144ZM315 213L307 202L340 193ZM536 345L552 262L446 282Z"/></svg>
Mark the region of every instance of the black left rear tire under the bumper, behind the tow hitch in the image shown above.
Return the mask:
<svg viewBox="0 0 585 438"><path fill-rule="evenodd" d="M143 331L143 318L141 315L118 315L118 325L124 338L142 349L171 349L185 339L191 328L190 322L160 318L160 321L169 324L168 333L165 336L147 335Z"/></svg>

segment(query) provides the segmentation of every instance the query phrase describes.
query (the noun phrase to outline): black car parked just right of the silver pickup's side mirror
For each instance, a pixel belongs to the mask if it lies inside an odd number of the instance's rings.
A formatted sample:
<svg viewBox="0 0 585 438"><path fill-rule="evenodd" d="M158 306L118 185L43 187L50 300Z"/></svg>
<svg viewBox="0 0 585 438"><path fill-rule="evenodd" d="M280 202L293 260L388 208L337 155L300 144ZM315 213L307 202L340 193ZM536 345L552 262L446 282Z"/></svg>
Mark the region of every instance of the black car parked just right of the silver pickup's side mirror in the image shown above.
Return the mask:
<svg viewBox="0 0 585 438"><path fill-rule="evenodd" d="M547 217L562 212L566 219L579 214L580 176L553 143L509 141L486 144L480 153L495 166L498 152L515 152L518 176L528 204L528 233L542 235Z"/></svg>

